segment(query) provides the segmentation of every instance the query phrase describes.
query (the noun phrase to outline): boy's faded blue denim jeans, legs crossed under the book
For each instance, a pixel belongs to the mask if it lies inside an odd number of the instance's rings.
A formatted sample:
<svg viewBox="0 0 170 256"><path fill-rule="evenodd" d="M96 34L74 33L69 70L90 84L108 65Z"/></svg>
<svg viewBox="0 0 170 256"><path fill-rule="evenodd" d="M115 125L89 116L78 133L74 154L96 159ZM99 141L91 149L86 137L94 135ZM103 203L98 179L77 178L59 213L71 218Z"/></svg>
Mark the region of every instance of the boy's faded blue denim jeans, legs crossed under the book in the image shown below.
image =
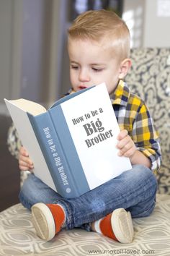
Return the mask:
<svg viewBox="0 0 170 256"><path fill-rule="evenodd" d="M66 212L66 229L81 227L90 230L88 223L117 208L129 210L133 218L149 216L155 207L156 189L156 177L151 170L135 165L130 171L73 199L61 197L34 174L30 174L19 193L19 199L28 209L37 202L58 203Z"/></svg>

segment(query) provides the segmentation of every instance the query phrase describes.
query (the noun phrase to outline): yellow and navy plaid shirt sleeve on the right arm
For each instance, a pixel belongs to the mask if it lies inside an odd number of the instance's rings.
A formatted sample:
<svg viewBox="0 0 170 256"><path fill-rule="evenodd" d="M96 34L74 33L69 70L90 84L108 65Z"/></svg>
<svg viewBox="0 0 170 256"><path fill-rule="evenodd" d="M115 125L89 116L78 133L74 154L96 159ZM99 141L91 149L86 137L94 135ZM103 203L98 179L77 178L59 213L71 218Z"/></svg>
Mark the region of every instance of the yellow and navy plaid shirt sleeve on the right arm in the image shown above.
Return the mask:
<svg viewBox="0 0 170 256"><path fill-rule="evenodd" d="M130 96L131 136L136 147L151 160L151 169L156 171L161 166L161 148L153 119L146 104L135 95Z"/></svg>

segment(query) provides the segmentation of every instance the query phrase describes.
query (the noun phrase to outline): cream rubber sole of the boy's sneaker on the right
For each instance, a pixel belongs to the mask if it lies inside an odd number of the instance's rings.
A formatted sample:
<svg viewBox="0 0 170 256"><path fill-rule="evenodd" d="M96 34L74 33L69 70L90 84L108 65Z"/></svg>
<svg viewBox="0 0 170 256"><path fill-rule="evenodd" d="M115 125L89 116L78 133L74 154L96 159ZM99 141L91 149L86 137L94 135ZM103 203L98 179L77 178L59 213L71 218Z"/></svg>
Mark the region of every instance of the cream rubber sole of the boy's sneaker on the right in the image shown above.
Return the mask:
<svg viewBox="0 0 170 256"><path fill-rule="evenodd" d="M119 242L129 244L133 241L133 221L130 212L116 209L111 217L112 230Z"/></svg>

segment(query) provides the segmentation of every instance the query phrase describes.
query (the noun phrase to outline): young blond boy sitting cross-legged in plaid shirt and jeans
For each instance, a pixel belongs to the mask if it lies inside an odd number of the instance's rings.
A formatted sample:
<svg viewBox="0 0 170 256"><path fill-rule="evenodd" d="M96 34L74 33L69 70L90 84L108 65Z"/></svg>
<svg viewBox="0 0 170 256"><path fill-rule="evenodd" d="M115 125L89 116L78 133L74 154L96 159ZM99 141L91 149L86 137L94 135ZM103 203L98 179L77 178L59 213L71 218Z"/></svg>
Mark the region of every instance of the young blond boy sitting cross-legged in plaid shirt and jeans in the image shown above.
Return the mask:
<svg viewBox="0 0 170 256"><path fill-rule="evenodd" d="M131 216L145 217L153 211L153 171L160 166L161 150L148 108L122 81L131 65L129 52L128 27L114 12L85 12L68 30L69 93L106 83L121 129L117 137L119 155L130 158L133 168L73 199L61 197L30 174L19 198L32 209L32 222L42 239L49 241L65 227L81 227L129 243L133 240ZM33 168L24 148L20 150L19 167Z"/></svg>

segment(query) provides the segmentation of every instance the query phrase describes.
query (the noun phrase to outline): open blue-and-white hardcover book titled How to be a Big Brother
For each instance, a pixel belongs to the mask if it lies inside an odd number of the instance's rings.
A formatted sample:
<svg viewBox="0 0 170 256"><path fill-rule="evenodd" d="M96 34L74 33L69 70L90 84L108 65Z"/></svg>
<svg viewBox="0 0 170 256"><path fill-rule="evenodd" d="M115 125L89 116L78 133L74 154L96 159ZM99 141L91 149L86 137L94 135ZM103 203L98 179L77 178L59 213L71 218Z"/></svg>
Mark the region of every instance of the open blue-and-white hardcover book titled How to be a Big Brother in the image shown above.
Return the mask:
<svg viewBox="0 0 170 256"><path fill-rule="evenodd" d="M103 84L56 101L48 111L4 99L34 174L66 198L78 197L132 168L117 155L120 128Z"/></svg>

